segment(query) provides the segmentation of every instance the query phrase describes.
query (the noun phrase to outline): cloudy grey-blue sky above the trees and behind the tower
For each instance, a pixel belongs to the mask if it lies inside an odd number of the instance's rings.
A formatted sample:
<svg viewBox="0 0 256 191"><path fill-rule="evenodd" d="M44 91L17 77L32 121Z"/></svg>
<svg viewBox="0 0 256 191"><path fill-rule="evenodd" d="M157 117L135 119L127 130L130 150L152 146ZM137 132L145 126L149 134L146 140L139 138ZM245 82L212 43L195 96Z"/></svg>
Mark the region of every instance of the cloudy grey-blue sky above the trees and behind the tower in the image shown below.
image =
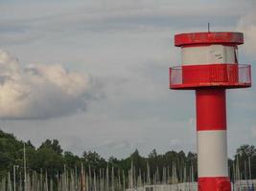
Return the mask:
<svg viewBox="0 0 256 191"><path fill-rule="evenodd" d="M244 32L256 84L254 0L0 0L0 128L77 155L196 152L195 92L169 90L179 32ZM256 144L256 87L227 91L228 155Z"/></svg>

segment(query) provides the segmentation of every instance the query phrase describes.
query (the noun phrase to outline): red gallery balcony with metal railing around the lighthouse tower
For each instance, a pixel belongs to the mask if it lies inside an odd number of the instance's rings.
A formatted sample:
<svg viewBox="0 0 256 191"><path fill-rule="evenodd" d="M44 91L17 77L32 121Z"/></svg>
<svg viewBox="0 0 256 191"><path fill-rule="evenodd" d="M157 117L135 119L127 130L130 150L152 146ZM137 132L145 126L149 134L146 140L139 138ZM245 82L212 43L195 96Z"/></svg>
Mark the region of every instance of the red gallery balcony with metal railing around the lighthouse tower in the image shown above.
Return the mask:
<svg viewBox="0 0 256 191"><path fill-rule="evenodd" d="M239 88L251 85L250 65L215 64L198 66L183 65L170 68L170 88L186 89L200 86Z"/></svg>

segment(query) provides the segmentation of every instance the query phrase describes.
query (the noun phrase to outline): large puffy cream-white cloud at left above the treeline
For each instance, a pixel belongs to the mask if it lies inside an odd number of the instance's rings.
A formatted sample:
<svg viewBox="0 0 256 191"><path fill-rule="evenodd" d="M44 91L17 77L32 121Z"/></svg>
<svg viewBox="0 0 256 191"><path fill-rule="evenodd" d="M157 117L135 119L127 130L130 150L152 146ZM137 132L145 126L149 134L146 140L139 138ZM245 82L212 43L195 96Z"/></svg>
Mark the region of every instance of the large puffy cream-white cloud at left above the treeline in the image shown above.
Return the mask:
<svg viewBox="0 0 256 191"><path fill-rule="evenodd" d="M68 72L60 65L22 67L0 50L1 118L49 118L84 111L95 89L89 75Z"/></svg>

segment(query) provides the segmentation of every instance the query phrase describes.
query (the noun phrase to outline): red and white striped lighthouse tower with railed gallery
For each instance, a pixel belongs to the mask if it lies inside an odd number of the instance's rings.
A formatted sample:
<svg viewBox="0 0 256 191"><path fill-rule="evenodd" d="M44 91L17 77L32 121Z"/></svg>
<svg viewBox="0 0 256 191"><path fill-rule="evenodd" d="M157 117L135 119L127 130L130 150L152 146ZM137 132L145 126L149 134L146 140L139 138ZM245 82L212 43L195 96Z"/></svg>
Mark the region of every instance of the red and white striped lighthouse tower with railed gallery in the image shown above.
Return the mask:
<svg viewBox="0 0 256 191"><path fill-rule="evenodd" d="M225 89L251 86L250 65L238 64L240 32L175 35L181 66L170 68L170 88L196 90L198 190L230 191Z"/></svg>

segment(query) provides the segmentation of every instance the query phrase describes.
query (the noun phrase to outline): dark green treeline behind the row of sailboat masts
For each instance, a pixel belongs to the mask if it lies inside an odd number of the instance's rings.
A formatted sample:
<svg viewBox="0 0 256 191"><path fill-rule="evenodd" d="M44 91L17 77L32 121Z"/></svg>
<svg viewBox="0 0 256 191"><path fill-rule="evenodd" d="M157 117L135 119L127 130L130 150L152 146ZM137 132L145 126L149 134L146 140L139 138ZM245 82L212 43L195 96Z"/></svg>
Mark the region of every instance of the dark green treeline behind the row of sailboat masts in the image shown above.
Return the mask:
<svg viewBox="0 0 256 191"><path fill-rule="evenodd" d="M128 174L131 163L134 167L134 176L142 176L154 179L158 174L158 179L163 179L164 171L173 171L175 167L176 179L182 181L184 174L193 174L197 178L197 154L183 151L169 151L165 154L157 154L152 150L147 158L139 155L135 150L127 159L102 158L98 153L88 151L82 156L76 156L69 151L63 151L57 139L47 139L38 147L31 141L23 142L17 140L12 134L7 134L0 130L0 176L5 176L13 170L15 166L19 171L23 169L24 144L26 148L27 171L36 173L47 172L49 179L55 179L62 174L64 169L73 169L80 172L81 164L85 169L91 169L99 173L107 166L113 167L114 174L124 172ZM237 149L235 159L229 159L229 172L231 179L237 174L241 179L256 179L256 149L253 145L242 145Z"/></svg>

